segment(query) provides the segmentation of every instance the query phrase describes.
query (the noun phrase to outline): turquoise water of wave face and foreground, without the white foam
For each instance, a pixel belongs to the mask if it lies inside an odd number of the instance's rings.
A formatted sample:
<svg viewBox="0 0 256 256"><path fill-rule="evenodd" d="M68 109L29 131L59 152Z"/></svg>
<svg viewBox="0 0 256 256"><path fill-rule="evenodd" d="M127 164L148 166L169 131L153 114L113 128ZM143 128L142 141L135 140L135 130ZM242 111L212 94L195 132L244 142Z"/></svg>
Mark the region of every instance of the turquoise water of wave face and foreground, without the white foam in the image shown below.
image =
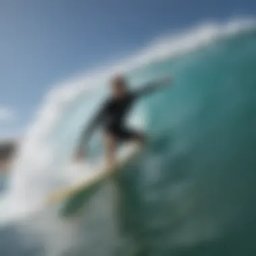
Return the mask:
<svg viewBox="0 0 256 256"><path fill-rule="evenodd" d="M3 255L113 255L120 236L138 256L255 255L255 70L251 30L130 72L174 86L141 101L152 142L121 172L121 218L106 185L71 220L53 207L5 226Z"/></svg>

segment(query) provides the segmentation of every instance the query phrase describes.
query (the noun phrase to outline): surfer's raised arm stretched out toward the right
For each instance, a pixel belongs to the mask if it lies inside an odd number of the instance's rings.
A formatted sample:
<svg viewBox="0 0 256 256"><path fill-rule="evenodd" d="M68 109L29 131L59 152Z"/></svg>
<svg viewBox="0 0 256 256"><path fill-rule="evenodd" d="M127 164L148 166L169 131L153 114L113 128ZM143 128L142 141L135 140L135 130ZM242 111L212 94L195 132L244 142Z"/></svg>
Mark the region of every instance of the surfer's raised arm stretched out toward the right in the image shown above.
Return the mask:
<svg viewBox="0 0 256 256"><path fill-rule="evenodd" d="M164 77L163 79L160 79L156 82L151 82L148 83L144 86L142 86L142 88L140 88L139 90L137 90L135 92L136 96L144 96L147 94L152 94L153 92L156 92L158 90L160 90L161 88L164 88L166 86L169 86L172 82L171 77Z"/></svg>

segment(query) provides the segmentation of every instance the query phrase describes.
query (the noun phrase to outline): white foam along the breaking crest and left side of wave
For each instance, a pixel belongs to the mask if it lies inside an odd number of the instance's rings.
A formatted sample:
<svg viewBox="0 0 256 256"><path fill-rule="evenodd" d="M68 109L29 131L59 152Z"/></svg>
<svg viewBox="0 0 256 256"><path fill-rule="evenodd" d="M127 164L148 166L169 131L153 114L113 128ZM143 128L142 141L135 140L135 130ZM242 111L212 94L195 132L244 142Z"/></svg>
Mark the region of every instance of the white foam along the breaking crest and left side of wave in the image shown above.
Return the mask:
<svg viewBox="0 0 256 256"><path fill-rule="evenodd" d="M99 88L101 84L106 84L106 79L113 73L131 71L175 55L185 54L218 40L220 37L231 36L252 28L255 28L255 21L250 19L232 20L226 24L208 22L179 34L152 40L150 44L124 61L118 61L95 71L88 71L85 75L79 75L55 85L44 98L42 107L38 110L32 125L28 127L24 143L13 163L10 187L7 191L7 201L10 207L9 212L6 212L8 210L6 205L4 206L4 215L10 214L10 211L15 211L17 215L18 212L24 213L42 206L46 194L57 183L61 170L57 170L55 158L60 155L56 154L56 143L53 143L50 135L63 120L69 106L79 96L86 91L92 92L94 87ZM78 133L78 131L79 129L72 132ZM75 145L76 137L77 134L67 145L69 151Z"/></svg>

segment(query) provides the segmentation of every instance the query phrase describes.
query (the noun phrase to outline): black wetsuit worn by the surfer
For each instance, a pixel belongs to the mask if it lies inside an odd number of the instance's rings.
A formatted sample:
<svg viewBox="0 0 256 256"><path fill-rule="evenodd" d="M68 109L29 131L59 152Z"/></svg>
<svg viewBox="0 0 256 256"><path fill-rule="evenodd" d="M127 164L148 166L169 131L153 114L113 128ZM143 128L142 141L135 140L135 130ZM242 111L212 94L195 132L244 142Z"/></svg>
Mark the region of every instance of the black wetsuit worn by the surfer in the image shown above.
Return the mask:
<svg viewBox="0 0 256 256"><path fill-rule="evenodd" d="M109 98L106 100L100 108L98 115L96 115L88 129L84 132L83 141L87 141L90 138L91 133L99 125L103 128L105 133L113 135L119 141L139 137L137 131L125 127L125 117L127 117L127 113L139 96L153 92L156 87L156 84L150 84L137 92L128 92L125 98Z"/></svg>

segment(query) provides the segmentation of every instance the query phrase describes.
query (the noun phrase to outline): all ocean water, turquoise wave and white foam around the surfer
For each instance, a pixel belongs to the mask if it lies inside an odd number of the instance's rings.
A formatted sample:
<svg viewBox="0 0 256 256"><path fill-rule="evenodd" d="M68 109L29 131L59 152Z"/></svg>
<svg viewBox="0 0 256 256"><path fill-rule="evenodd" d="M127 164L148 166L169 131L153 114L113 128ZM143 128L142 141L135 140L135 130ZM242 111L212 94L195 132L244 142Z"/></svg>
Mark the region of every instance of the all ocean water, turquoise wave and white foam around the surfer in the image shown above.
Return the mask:
<svg viewBox="0 0 256 256"><path fill-rule="evenodd" d="M42 207L75 176L63 170L105 85L51 92L1 194L1 255L255 255L256 27L200 26L149 49L127 62L131 82L174 83L135 106L141 156L79 214Z"/></svg>

